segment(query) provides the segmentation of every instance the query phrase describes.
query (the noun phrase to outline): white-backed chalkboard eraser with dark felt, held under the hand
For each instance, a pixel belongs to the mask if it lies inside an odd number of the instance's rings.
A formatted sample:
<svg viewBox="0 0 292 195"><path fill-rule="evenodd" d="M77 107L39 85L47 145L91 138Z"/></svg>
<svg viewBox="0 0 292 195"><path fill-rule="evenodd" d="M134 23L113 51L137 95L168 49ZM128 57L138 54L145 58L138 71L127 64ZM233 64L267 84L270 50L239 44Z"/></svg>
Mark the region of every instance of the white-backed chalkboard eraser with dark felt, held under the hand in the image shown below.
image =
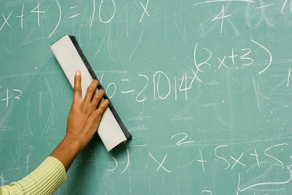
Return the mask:
<svg viewBox="0 0 292 195"><path fill-rule="evenodd" d="M81 89L82 98L84 98L91 81L97 77L75 37L65 35L52 44L51 49L72 87L74 86L75 72L81 71ZM95 93L100 89L103 89L101 85L97 87ZM108 99L108 96L105 95L101 101L104 99ZM131 134L127 131L111 102L103 114L97 133L108 151L127 141L127 138L131 138Z"/></svg>

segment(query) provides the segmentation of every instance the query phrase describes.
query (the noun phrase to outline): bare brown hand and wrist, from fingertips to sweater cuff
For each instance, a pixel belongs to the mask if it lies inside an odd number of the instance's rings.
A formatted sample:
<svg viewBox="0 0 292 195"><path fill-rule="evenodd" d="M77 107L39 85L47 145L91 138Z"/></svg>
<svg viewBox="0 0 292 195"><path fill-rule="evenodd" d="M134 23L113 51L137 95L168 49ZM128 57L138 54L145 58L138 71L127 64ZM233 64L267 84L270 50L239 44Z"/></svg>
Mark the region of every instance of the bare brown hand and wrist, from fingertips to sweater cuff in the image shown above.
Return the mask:
<svg viewBox="0 0 292 195"><path fill-rule="evenodd" d="M94 95L98 85L98 81L93 80L83 99L81 96L81 72L76 71L73 103L67 119L66 136L50 155L63 163L66 172L76 156L89 144L99 126L103 112L109 105L109 100L105 99L98 106L105 94L104 90L99 90Z"/></svg>

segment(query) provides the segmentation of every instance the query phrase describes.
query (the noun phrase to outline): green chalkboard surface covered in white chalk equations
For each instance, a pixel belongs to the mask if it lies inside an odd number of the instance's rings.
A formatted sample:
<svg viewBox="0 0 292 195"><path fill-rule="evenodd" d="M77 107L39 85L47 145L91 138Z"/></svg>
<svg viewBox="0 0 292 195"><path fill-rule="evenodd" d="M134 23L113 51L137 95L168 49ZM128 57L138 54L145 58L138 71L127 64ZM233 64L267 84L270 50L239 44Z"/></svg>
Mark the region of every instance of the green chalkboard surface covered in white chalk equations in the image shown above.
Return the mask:
<svg viewBox="0 0 292 195"><path fill-rule="evenodd" d="M132 140L98 136L60 195L290 195L290 0L0 0L0 185L62 140L73 35Z"/></svg>

